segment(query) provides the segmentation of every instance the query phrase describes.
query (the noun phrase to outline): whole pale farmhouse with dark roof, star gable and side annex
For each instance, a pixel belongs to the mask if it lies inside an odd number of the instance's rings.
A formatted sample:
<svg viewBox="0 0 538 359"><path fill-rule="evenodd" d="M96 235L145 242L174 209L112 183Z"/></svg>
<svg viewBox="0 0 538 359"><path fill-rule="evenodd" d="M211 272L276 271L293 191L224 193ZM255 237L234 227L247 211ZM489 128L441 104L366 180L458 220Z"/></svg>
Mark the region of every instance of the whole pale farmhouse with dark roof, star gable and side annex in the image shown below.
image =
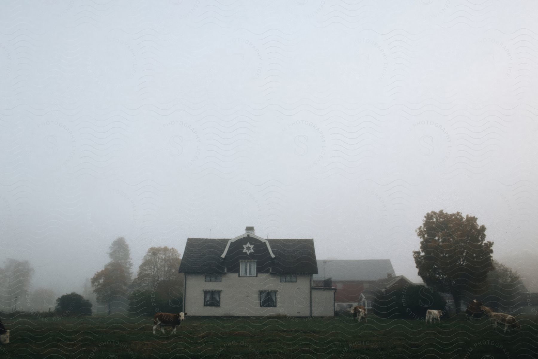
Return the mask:
<svg viewBox="0 0 538 359"><path fill-rule="evenodd" d="M183 311L201 316L334 316L336 289L313 285L313 239L188 238Z"/></svg>

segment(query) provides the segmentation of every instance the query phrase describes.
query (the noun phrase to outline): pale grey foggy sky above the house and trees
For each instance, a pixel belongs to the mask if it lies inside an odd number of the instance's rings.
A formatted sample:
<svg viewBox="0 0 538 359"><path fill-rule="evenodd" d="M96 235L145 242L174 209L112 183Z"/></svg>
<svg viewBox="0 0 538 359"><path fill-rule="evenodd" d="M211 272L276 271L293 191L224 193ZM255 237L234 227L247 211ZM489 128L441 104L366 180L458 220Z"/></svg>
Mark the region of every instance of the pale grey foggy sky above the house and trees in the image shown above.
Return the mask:
<svg viewBox="0 0 538 359"><path fill-rule="evenodd" d="M81 292L187 237L314 238L414 282L432 210L538 291L538 3L0 4L0 266Z"/></svg>

